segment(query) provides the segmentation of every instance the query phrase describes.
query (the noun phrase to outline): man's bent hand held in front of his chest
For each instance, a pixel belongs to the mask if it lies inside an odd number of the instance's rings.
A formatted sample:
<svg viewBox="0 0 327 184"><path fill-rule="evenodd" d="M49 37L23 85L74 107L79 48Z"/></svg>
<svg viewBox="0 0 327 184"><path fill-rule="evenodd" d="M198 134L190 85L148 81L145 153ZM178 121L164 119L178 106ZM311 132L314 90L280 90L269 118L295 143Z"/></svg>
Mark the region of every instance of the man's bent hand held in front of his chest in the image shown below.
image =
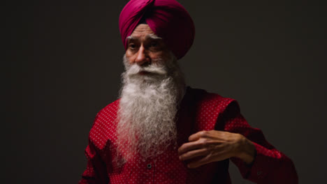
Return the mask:
<svg viewBox="0 0 327 184"><path fill-rule="evenodd" d="M189 142L178 148L180 160L189 160L187 164L189 168L232 157L251 164L255 152L254 144L246 137L217 130L197 132L189 137Z"/></svg>

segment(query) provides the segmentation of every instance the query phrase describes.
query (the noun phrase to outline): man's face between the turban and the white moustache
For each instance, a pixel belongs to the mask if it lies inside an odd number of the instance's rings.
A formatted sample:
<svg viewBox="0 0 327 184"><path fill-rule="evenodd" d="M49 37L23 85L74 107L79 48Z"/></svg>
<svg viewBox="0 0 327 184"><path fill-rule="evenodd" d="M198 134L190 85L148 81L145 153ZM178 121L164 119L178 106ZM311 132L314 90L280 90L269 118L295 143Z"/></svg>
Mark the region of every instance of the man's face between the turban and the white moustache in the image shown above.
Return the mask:
<svg viewBox="0 0 327 184"><path fill-rule="evenodd" d="M138 24L127 39L126 59L130 64L146 66L169 58L169 49L162 38L156 36L147 24Z"/></svg>

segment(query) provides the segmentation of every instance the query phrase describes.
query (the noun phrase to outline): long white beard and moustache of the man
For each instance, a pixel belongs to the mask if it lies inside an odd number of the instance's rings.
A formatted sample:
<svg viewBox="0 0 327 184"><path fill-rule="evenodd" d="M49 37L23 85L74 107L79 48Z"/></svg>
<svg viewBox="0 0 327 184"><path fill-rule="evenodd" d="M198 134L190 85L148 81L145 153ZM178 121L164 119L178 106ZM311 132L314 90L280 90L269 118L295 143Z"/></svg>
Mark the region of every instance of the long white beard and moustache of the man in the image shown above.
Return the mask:
<svg viewBox="0 0 327 184"><path fill-rule="evenodd" d="M124 66L117 153L123 162L135 157L145 161L177 145L175 115L184 95L184 77L173 55L146 67L130 65L124 56Z"/></svg>

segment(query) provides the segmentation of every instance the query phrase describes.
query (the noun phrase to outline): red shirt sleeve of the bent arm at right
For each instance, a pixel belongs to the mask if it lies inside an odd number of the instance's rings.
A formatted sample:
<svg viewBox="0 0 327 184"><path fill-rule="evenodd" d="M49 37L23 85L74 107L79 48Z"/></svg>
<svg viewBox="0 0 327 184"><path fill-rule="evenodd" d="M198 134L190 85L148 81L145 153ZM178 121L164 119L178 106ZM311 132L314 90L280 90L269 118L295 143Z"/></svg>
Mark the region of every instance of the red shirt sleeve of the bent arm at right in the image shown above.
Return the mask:
<svg viewBox="0 0 327 184"><path fill-rule="evenodd" d="M238 102L231 102L218 121L224 121L225 131L244 135L256 148L254 162L250 165L239 158L231 158L243 178L254 183L298 183L298 174L291 159L268 143L260 129L247 123L240 114Z"/></svg>

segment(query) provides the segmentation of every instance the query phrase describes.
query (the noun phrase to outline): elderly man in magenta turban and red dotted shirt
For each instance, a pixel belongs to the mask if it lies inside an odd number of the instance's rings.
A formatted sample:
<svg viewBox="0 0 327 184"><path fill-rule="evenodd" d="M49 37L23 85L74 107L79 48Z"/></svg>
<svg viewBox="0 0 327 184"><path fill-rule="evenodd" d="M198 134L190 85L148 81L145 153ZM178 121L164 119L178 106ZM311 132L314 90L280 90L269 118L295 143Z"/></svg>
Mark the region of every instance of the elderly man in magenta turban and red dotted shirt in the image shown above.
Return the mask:
<svg viewBox="0 0 327 184"><path fill-rule="evenodd" d="M186 87L177 60L194 24L175 0L131 0L119 17L121 98L99 112L80 183L298 183L293 162L251 128L231 98Z"/></svg>

